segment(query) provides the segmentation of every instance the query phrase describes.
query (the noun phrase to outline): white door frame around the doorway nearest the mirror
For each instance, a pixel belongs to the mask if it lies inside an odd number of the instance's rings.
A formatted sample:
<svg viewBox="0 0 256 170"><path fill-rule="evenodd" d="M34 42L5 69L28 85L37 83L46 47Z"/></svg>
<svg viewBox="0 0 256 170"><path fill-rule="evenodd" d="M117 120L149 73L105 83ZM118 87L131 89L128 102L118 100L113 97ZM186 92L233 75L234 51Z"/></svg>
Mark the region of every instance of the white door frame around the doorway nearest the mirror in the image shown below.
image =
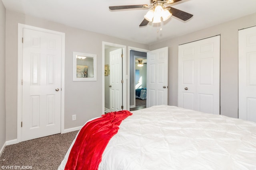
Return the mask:
<svg viewBox="0 0 256 170"><path fill-rule="evenodd" d="M127 80L126 79L126 46L102 41L102 67L101 67L102 68L102 114L105 113L105 73L104 73L104 68L105 68L105 45L123 49L123 79L124 79L123 96L126 96L126 83L127 83L127 81L126 81ZM126 98L125 97L123 97L123 106L124 106L124 110L126 110L127 105L126 105Z"/></svg>

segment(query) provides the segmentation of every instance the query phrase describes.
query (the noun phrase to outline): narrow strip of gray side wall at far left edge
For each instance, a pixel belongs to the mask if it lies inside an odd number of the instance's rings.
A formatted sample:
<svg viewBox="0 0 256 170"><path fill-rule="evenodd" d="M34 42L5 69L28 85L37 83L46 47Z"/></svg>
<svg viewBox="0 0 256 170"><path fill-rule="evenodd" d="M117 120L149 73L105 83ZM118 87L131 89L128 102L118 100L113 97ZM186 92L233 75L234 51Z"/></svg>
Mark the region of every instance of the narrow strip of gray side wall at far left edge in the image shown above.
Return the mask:
<svg viewBox="0 0 256 170"><path fill-rule="evenodd" d="M0 150L6 141L5 110L5 8L0 1ZM0 153L1 154L1 153Z"/></svg>

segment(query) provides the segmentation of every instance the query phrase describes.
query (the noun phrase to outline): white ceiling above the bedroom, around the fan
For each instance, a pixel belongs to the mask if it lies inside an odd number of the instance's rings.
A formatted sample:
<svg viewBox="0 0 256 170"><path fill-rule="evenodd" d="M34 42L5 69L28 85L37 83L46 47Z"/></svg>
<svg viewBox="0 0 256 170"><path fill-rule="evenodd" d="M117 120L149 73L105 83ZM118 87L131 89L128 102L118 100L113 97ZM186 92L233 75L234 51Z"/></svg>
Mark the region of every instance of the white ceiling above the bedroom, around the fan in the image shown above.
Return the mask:
<svg viewBox="0 0 256 170"><path fill-rule="evenodd" d="M7 10L64 25L152 44L256 12L256 0L182 0L172 4L194 16L184 22L172 16L139 27L148 9L110 11L108 6L150 4L150 0L2 0ZM159 25L160 29L160 25Z"/></svg>

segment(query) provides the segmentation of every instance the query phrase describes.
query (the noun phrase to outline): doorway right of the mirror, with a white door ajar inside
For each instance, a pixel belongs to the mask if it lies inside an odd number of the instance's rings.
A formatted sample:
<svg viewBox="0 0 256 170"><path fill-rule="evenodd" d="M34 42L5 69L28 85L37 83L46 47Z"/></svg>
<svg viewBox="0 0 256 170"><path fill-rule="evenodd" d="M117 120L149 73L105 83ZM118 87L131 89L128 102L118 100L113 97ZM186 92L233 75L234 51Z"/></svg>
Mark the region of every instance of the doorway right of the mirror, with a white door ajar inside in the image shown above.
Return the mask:
<svg viewBox="0 0 256 170"><path fill-rule="evenodd" d="M126 109L125 75L126 46L103 42L103 113ZM122 81L123 80L123 81Z"/></svg>

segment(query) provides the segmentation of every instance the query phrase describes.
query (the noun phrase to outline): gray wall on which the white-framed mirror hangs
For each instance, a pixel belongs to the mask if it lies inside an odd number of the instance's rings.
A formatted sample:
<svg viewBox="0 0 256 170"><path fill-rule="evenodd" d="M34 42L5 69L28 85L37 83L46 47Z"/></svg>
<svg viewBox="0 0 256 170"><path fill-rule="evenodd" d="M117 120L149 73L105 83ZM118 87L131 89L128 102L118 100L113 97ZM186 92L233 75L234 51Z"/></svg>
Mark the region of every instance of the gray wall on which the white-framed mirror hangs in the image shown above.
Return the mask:
<svg viewBox="0 0 256 170"><path fill-rule="evenodd" d="M102 41L126 45L127 47L149 49L149 45L76 29L6 10L6 141L17 138L18 23L60 31L66 34L64 129L82 126L88 119L102 115L102 75L104 75L104 68L102 68ZM73 51L97 55L97 81L72 81ZM81 92L79 89L86 90ZM76 121L72 121L73 114L76 114Z"/></svg>

